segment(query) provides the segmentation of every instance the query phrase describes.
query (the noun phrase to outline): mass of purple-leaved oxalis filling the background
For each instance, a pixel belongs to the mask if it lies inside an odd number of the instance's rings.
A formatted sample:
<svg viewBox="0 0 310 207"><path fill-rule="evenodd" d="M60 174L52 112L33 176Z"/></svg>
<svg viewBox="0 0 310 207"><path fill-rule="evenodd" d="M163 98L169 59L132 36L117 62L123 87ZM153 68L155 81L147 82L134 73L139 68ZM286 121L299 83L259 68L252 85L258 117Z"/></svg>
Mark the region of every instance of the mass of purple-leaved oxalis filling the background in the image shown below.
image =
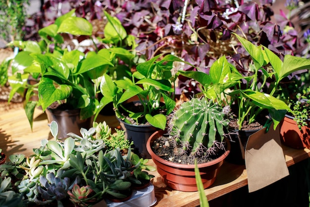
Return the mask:
<svg viewBox="0 0 310 207"><path fill-rule="evenodd" d="M289 14L281 11L274 16L272 0L49 0L44 5L46 19L59 3L69 3L89 21L104 21L103 10L116 16L127 34L137 37L137 55L146 60L173 54L196 67L179 65L177 69L208 72L215 60L226 56L239 71L251 73L249 54L232 32L267 47L281 59L286 54L309 56L309 43L298 34ZM286 6L293 11L296 1ZM176 94L197 92L194 80L180 76Z"/></svg>

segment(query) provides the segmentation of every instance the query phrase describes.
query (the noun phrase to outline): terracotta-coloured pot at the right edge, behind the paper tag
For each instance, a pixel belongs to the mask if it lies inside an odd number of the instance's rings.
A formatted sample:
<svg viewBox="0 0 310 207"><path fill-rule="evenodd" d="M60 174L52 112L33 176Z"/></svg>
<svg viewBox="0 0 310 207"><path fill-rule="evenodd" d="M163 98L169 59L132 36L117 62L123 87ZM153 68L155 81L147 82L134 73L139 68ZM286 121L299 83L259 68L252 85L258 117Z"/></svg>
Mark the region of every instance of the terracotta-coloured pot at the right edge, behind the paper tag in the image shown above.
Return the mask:
<svg viewBox="0 0 310 207"><path fill-rule="evenodd" d="M307 120L308 125L300 130L293 119L294 117L285 115L282 121L280 128L282 143L295 149L310 148L310 120Z"/></svg>

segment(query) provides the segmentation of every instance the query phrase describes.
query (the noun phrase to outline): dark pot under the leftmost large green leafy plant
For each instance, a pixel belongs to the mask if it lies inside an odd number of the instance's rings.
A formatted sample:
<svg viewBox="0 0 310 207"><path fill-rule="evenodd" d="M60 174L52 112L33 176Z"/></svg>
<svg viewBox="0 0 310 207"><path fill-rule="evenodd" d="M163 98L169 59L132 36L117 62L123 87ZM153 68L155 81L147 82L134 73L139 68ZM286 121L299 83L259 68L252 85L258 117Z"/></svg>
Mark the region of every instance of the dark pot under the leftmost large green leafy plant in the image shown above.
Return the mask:
<svg viewBox="0 0 310 207"><path fill-rule="evenodd" d="M80 119L80 109L58 110L47 108L46 114L49 123L57 122L58 138L68 138L67 134L70 132L81 136L81 128L89 130L93 126L93 117Z"/></svg>

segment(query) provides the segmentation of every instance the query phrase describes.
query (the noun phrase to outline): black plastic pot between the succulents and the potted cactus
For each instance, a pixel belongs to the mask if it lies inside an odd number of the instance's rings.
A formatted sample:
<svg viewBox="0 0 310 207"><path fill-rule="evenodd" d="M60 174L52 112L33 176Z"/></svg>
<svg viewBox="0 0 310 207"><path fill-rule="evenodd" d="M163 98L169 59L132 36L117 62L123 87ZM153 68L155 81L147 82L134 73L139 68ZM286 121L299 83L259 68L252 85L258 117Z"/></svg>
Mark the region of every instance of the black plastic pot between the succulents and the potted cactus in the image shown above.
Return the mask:
<svg viewBox="0 0 310 207"><path fill-rule="evenodd" d="M153 133L157 131L152 125L131 125L119 120L120 126L125 131L125 137L129 141L133 141L133 152L140 157L151 158L147 150L147 141Z"/></svg>

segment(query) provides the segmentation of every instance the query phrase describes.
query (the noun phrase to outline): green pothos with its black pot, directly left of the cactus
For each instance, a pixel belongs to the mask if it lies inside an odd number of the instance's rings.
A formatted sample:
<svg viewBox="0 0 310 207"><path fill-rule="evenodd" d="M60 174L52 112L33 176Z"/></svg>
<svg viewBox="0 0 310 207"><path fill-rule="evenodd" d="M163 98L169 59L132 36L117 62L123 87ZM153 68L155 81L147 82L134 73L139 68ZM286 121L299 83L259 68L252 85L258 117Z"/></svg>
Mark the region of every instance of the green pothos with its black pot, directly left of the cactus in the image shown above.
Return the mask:
<svg viewBox="0 0 310 207"><path fill-rule="evenodd" d="M134 152L144 158L150 158L146 149L147 139L156 128L166 127L165 115L175 107L174 82L177 74L173 72L174 62L185 63L172 55L158 55L138 64L132 79L113 80L104 74L101 80L100 90L105 104L113 103L115 115L122 128L126 129L127 139L134 141Z"/></svg>

